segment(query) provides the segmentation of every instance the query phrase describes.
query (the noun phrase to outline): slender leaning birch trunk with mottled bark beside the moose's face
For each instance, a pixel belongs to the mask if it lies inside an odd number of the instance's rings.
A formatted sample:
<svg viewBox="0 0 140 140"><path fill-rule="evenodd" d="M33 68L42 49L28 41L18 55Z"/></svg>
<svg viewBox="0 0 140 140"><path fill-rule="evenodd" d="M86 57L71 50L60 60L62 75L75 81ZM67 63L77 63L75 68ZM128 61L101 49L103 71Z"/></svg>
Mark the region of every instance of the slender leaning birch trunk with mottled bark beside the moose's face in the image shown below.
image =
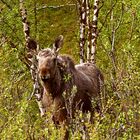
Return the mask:
<svg viewBox="0 0 140 140"><path fill-rule="evenodd" d="M26 51L27 51L27 58L28 61L30 61L30 73L32 76L32 80L33 80L33 92L31 94L31 97L29 99L32 98L33 95L35 95L36 97L36 101L39 105L39 109L42 113L42 95L43 95L43 87L40 83L39 80L39 75L37 72L37 51L38 51L38 46L37 43L34 39L31 39L30 37L30 27L29 27L29 22L27 20L27 11L24 7L24 0L19 0L20 2L20 12L21 12L21 18L22 18L22 23L23 23L23 31L24 31L24 35L25 35L25 46L26 46Z"/></svg>

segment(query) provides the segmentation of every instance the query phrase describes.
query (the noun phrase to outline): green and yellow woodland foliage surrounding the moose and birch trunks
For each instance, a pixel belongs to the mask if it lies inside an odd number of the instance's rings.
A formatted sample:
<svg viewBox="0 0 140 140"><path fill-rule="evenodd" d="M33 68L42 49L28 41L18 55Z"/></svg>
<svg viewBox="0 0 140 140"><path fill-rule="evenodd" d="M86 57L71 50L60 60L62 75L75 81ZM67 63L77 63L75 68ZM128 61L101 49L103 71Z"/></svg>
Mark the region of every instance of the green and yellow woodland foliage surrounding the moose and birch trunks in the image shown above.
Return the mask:
<svg viewBox="0 0 140 140"><path fill-rule="evenodd" d="M40 48L62 34L62 54L79 63L79 11L76 0L25 0L31 36ZM92 7L93 1L90 0ZM140 139L140 1L100 2L96 64L105 77L103 115L84 122L91 140ZM113 17L113 18L112 18ZM114 30L115 29L115 30ZM0 139L59 139L48 113L40 117L25 61L25 39L18 0L0 1ZM112 49L112 42L114 45ZM113 55L113 57L112 57ZM80 115L81 117L81 115ZM71 139L82 137L82 118ZM88 117L88 116L87 116Z"/></svg>

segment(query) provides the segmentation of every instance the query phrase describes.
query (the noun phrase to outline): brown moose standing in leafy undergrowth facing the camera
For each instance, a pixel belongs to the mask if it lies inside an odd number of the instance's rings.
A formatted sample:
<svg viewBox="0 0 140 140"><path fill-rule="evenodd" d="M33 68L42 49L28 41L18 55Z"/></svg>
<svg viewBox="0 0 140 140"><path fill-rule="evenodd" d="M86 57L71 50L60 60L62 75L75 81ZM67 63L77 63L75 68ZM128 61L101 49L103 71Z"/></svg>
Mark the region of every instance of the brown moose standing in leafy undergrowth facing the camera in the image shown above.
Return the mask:
<svg viewBox="0 0 140 140"><path fill-rule="evenodd" d="M70 56L59 55L62 45L63 36L60 35L55 40L52 49L43 49L37 55L38 73L44 87L43 107L47 111L53 105L52 119L56 125L68 124L69 116L73 118L76 109L83 113L90 112L92 118L94 109L100 110L98 102L94 108L92 107L92 99L100 97L103 84L103 75L95 64L75 65ZM72 94L74 86L76 91ZM69 104L71 112L66 105L69 98L72 99ZM68 139L68 136L64 139Z"/></svg>

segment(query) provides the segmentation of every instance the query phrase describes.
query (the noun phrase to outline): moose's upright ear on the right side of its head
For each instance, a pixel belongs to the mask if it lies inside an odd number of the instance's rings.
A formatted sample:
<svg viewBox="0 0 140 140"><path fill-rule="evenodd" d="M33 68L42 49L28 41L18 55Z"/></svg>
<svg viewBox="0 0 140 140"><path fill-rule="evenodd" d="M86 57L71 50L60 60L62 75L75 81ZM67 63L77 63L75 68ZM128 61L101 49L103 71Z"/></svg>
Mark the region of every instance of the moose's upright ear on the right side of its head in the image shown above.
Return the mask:
<svg viewBox="0 0 140 140"><path fill-rule="evenodd" d="M61 49L63 45L63 35L59 35L56 39L55 39L55 42L53 44L53 51L54 51L54 54L57 56L58 55L58 52L59 50Z"/></svg>

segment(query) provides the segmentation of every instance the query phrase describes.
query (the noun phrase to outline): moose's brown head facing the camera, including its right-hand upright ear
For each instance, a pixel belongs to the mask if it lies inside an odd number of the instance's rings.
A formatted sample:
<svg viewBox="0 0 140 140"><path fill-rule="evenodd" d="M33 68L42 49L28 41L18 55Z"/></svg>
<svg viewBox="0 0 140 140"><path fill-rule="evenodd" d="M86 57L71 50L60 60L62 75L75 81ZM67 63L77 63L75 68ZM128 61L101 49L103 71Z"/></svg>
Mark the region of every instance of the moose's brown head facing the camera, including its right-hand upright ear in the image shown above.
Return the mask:
<svg viewBox="0 0 140 140"><path fill-rule="evenodd" d="M57 72L58 52L62 44L63 36L60 35L56 38L52 49L43 49L38 53L38 71L43 82L49 81L55 77Z"/></svg>

